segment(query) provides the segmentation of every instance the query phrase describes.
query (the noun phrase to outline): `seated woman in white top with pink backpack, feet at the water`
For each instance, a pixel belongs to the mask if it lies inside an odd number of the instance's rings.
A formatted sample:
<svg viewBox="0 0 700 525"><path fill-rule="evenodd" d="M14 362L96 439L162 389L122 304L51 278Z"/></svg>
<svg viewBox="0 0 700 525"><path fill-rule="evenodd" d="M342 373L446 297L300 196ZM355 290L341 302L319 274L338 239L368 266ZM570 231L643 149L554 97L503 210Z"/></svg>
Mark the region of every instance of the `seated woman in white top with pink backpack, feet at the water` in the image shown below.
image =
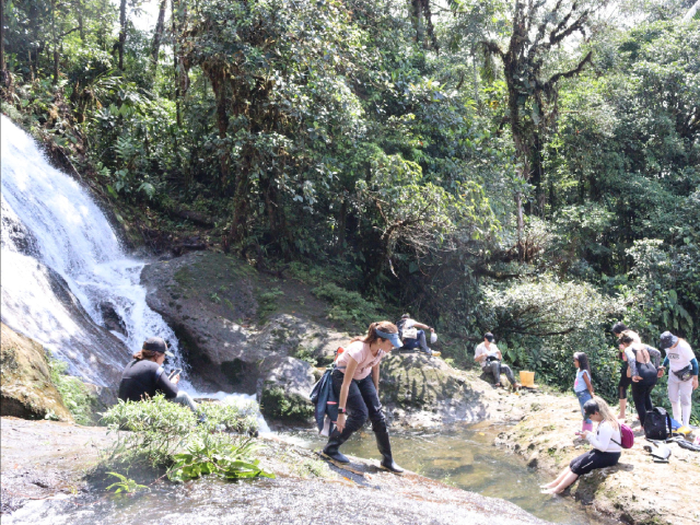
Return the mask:
<svg viewBox="0 0 700 525"><path fill-rule="evenodd" d="M622 447L620 443L620 423L604 399L594 396L588 399L583 409L587 418L598 423L597 432L578 432L593 445L593 450L574 457L559 477L551 483L542 485L542 492L559 494L572 485L579 476L588 474L597 468L611 467L620 460Z"/></svg>

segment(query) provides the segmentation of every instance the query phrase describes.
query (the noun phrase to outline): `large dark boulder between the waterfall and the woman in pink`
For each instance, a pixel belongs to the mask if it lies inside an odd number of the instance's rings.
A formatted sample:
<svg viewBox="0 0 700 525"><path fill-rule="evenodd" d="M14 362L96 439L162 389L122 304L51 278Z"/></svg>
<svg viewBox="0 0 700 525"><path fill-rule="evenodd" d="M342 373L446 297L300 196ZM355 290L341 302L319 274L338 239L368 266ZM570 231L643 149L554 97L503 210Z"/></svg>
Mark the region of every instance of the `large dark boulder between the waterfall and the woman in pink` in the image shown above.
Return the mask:
<svg viewBox="0 0 700 525"><path fill-rule="evenodd" d="M293 310L291 283L262 279L241 260L208 252L141 273L147 302L175 330L198 387L257 394L267 416L308 420L310 362L324 360L337 334Z"/></svg>

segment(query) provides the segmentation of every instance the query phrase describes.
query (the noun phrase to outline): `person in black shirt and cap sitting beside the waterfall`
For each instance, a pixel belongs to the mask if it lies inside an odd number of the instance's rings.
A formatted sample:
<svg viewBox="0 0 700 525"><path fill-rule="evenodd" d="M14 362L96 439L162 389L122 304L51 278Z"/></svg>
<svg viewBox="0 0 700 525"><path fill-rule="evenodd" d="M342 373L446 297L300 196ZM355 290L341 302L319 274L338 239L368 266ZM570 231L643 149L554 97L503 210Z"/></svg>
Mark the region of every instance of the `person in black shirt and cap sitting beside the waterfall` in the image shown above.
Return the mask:
<svg viewBox="0 0 700 525"><path fill-rule="evenodd" d="M160 337L151 337L143 342L143 348L133 354L133 361L127 364L119 382L119 399L140 401L162 393L165 399L184 405L197 413L197 404L184 390L177 389L179 374L170 380L163 371L165 355L174 357L167 351L167 345Z"/></svg>

